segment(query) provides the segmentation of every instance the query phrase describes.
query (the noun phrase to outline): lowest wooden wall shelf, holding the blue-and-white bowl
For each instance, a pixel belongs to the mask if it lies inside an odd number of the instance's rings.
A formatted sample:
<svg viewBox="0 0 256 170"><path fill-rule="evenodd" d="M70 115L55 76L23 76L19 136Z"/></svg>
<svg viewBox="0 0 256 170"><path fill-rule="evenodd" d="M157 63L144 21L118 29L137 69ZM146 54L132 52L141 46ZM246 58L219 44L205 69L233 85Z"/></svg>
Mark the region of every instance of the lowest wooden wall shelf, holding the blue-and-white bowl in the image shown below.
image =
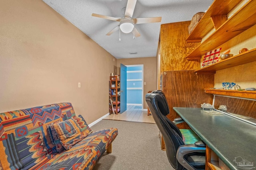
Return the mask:
<svg viewBox="0 0 256 170"><path fill-rule="evenodd" d="M240 98L249 98L249 99L256 99L256 91L246 91L246 90L222 90L222 89L204 89L205 93L209 94L217 94L223 96L233 96L233 97L240 97Z"/></svg>

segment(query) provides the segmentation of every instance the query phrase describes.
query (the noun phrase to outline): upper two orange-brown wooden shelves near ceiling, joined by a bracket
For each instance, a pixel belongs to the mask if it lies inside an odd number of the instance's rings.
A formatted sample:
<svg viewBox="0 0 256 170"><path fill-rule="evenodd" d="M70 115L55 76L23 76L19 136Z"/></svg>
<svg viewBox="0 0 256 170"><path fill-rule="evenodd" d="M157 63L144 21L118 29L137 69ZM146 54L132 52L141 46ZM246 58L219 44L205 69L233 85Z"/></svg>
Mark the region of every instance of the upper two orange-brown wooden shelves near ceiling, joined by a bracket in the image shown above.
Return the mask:
<svg viewBox="0 0 256 170"><path fill-rule="evenodd" d="M230 4L232 4L233 1L236 2L234 4L237 4L239 0L228 0ZM201 39L202 35L205 35L205 31L202 30L204 30L205 27L208 26L204 24L210 25L209 23L207 23L207 19L212 21L211 25L214 25L216 27L216 31L214 31L214 33L212 33L208 38L206 38L205 41L203 41L196 49L194 49L194 51L192 51L186 57L187 60L201 59L202 55L204 55L208 51L211 51L212 49L222 45L223 43L234 38L236 35L239 35L246 29L256 24L255 0L249 0L244 6L242 6L235 14L233 14L228 20L226 20L222 24L223 15L226 15L226 12L224 12L225 9L230 9L230 7L233 6L230 4L226 4L226 1L224 0L214 1L209 11L205 13L203 18L201 19L202 21L200 21L198 25L196 25L196 27L194 28L194 30L192 31L187 40ZM226 7L223 7L222 12L224 12L224 14L219 14L219 16L212 16L214 14L214 12L212 12L213 9L216 9L219 6ZM218 25L220 26L218 27Z"/></svg>

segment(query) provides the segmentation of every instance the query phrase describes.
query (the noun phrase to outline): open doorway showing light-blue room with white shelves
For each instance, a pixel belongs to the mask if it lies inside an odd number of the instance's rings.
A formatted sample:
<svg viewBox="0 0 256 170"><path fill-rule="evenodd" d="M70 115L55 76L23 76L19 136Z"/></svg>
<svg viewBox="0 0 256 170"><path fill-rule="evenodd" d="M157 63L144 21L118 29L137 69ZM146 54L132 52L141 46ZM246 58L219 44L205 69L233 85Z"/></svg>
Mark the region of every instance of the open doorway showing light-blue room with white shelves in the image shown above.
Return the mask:
<svg viewBox="0 0 256 170"><path fill-rule="evenodd" d="M127 67L127 107L143 110L143 64Z"/></svg>

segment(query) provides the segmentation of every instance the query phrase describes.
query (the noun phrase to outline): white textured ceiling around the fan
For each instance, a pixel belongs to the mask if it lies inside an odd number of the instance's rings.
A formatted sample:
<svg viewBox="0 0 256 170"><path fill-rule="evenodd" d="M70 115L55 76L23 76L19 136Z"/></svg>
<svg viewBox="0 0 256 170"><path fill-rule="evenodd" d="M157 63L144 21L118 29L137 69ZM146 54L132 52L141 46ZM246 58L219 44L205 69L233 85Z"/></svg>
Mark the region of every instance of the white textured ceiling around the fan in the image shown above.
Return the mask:
<svg viewBox="0 0 256 170"><path fill-rule="evenodd" d="M212 0L137 0L132 18L161 16L162 21L136 24L141 36L133 39L133 33L121 32L119 41L119 31L106 35L119 22L92 17L92 13L121 18L127 0L43 1L117 59L155 57L161 24L189 21L194 14L204 12L212 4Z"/></svg>

